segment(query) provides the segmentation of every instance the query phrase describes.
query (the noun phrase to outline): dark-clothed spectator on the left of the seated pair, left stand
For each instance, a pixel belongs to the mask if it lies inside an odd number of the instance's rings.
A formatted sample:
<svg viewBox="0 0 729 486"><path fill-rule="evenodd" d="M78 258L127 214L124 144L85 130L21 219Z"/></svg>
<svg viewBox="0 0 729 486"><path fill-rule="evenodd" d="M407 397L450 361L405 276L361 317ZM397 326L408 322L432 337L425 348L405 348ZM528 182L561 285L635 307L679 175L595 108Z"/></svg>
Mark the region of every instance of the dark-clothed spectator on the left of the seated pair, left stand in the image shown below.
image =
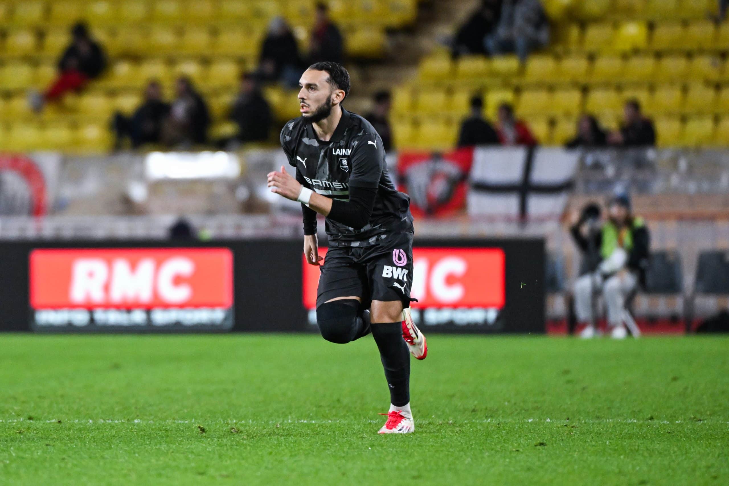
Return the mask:
<svg viewBox="0 0 729 486"><path fill-rule="evenodd" d="M117 135L115 147L122 148L128 136L133 149L143 144L159 143L162 137L162 126L169 115L170 104L162 99L162 86L157 81L147 83L144 89L144 102L131 117L120 112L114 115L114 132Z"/></svg>

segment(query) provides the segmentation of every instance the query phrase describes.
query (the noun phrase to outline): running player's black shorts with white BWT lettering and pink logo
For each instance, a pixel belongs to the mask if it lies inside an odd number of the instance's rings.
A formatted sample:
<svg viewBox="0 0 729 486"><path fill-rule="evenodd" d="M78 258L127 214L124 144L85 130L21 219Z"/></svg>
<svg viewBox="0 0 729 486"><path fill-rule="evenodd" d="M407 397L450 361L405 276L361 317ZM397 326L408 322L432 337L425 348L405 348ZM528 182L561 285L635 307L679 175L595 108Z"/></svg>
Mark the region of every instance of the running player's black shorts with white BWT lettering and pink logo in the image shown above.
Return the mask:
<svg viewBox="0 0 729 486"><path fill-rule="evenodd" d="M402 301L410 306L413 285L413 233L398 233L368 247L327 250L319 276L316 306L337 297L371 301Z"/></svg>

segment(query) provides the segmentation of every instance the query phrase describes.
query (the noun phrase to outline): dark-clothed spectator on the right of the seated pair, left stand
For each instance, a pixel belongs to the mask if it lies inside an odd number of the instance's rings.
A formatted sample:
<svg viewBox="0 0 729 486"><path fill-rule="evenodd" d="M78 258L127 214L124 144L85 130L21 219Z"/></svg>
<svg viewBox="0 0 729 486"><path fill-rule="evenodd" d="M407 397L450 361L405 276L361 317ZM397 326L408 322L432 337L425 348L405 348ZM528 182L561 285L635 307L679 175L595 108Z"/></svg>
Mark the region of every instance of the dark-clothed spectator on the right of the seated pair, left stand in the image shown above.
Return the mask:
<svg viewBox="0 0 729 486"><path fill-rule="evenodd" d="M170 147L189 149L208 139L208 106L187 77L176 81L176 98L163 126L163 142Z"/></svg>

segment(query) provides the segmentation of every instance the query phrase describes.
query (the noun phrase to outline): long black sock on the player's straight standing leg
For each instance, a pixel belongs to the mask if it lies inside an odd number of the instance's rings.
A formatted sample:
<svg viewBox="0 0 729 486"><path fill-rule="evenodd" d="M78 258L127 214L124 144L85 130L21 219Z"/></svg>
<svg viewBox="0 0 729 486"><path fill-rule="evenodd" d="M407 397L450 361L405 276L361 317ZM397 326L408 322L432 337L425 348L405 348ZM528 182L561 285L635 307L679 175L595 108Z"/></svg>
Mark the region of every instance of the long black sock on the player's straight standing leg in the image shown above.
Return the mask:
<svg viewBox="0 0 729 486"><path fill-rule="evenodd" d="M410 351L402 339L402 323L372 323L371 327L390 388L390 403L407 405L410 402Z"/></svg>

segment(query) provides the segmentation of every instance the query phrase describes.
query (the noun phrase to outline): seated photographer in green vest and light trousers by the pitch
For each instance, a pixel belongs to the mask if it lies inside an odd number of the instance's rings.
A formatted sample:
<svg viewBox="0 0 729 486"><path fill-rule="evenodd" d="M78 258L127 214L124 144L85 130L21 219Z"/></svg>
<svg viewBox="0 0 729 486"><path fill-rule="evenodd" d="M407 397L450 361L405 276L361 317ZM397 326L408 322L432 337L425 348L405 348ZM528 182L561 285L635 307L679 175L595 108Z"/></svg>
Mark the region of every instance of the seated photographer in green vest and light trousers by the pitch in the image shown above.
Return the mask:
<svg viewBox="0 0 729 486"><path fill-rule="evenodd" d="M596 229L594 208L585 208L571 228L575 243L586 254L587 273L574 282L577 320L587 325L580 334L583 338L596 334L593 306L596 293L601 293L605 300L612 337L627 336L623 325L625 298L634 293L639 283L645 282L650 237L644 220L632 214L627 195L612 198L608 211L607 222ZM586 231L588 223L592 229Z"/></svg>

